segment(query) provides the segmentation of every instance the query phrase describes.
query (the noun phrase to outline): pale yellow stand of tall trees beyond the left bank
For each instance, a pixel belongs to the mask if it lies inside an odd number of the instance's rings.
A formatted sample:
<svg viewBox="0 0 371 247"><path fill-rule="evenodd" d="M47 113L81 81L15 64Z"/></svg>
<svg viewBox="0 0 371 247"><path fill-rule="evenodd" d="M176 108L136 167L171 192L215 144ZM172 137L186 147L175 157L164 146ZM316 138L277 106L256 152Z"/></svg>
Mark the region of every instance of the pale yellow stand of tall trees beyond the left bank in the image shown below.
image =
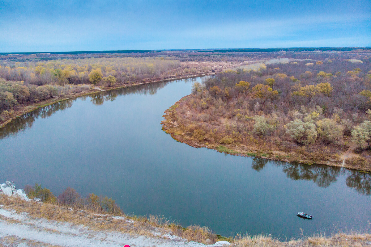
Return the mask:
<svg viewBox="0 0 371 247"><path fill-rule="evenodd" d="M2 61L0 77L25 84L89 84L91 73L101 77L113 76L117 83L132 83L145 78L157 78L161 74L180 67L178 60L164 57L112 57L89 59L63 59L47 62ZM90 80L90 81L89 81ZM99 83L100 80L93 80Z"/></svg>

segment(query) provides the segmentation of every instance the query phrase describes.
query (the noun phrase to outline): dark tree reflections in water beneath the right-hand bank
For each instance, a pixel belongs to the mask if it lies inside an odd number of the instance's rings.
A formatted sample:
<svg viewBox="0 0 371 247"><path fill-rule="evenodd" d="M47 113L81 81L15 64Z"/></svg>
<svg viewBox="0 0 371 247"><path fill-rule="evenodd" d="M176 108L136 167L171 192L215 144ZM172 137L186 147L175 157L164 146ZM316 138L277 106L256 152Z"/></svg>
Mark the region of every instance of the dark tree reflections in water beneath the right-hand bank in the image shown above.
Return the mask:
<svg viewBox="0 0 371 247"><path fill-rule="evenodd" d="M251 168L259 172L268 162L277 167L282 167L282 171L286 173L287 177L293 180L313 181L319 187L330 186L342 174L346 176L346 184L349 188L354 188L360 194L371 194L371 174L369 173L335 166L305 165L263 158L254 158Z"/></svg>

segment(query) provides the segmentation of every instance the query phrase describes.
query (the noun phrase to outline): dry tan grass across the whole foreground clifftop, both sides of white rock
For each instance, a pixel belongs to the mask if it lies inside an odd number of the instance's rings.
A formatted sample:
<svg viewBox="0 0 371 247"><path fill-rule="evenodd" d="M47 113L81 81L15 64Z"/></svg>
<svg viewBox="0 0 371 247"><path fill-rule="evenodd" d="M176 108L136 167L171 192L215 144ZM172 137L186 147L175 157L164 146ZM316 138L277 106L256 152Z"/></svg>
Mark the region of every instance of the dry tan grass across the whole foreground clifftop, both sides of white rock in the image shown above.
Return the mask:
<svg viewBox="0 0 371 247"><path fill-rule="evenodd" d="M173 234L178 237L185 238L189 241L198 243L213 244L220 240L229 241L231 246L236 247L370 247L371 234L360 233L338 233L331 237L322 235L311 236L301 240L280 241L267 235L248 235L237 234L234 238L225 238L220 235L211 233L207 227L189 226L181 227L175 223L169 222L164 218L157 216L146 217L129 217L122 214L121 217L131 220L116 220L113 215L105 214L97 215L95 211L77 211L69 210L66 207L53 205L49 203L36 203L23 201L20 198L0 196L0 204L6 209L13 209L17 212L26 212L33 218L46 218L48 220L56 220L68 222L73 225L83 225L92 230L99 231L116 231L129 234L138 234L142 236L154 236L154 233ZM10 240L10 239L9 239ZM16 241L16 240L14 240ZM16 241L17 242L17 241ZM0 241L0 246L1 246Z"/></svg>

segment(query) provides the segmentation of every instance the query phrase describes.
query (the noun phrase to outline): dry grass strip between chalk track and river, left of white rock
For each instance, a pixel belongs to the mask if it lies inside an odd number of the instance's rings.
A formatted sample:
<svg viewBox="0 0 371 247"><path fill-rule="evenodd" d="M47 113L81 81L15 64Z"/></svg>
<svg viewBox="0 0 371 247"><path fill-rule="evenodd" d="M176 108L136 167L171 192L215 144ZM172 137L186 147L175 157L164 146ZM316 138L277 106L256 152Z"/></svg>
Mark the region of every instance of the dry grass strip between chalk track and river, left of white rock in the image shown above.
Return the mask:
<svg viewBox="0 0 371 247"><path fill-rule="evenodd" d="M206 227L191 226L183 228L157 216L146 218L121 214L121 217L130 220L127 222L125 220L116 220L112 218L113 214L102 214L98 210L69 210L66 207L55 204L27 202L17 197L5 195L0 196L0 204L9 210L26 212L33 218L46 218L48 220L72 223L73 225L83 225L92 230L116 231L143 236L154 236L154 233L159 235L171 233L199 243L210 244L218 241L217 235L212 234Z"/></svg>

